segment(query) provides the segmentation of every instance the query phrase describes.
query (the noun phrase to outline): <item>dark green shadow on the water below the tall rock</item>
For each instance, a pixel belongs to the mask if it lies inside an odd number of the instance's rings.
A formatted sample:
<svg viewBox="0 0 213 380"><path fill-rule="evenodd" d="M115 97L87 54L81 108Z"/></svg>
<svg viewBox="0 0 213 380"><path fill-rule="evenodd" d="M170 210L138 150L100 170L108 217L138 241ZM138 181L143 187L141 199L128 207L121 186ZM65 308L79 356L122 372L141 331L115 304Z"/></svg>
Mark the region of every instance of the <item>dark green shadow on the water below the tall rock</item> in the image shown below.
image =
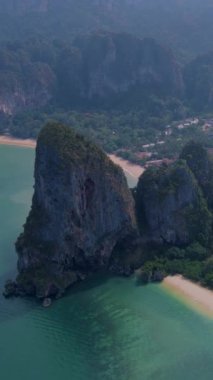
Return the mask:
<svg viewBox="0 0 213 380"><path fill-rule="evenodd" d="M66 340L66 354L72 352L75 341L93 380L112 379L111 373L116 374L113 378L123 379L117 368L121 361L118 321L110 311L116 313L116 306L107 295L108 285L105 286L112 278L106 273L92 275L71 287L65 297L47 310L52 326Z"/></svg>

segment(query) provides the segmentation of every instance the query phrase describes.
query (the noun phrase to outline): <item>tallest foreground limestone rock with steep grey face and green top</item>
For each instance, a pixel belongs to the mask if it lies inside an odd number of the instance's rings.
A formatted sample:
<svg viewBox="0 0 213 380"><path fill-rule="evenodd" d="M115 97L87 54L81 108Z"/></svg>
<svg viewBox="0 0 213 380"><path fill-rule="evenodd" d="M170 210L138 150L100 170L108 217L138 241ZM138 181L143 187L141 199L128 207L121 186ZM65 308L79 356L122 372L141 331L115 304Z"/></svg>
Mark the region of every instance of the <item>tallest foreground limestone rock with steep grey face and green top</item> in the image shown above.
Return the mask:
<svg viewBox="0 0 213 380"><path fill-rule="evenodd" d="M134 202L119 167L68 127L47 125L36 151L32 209L19 237L20 291L55 295L107 268L135 233Z"/></svg>

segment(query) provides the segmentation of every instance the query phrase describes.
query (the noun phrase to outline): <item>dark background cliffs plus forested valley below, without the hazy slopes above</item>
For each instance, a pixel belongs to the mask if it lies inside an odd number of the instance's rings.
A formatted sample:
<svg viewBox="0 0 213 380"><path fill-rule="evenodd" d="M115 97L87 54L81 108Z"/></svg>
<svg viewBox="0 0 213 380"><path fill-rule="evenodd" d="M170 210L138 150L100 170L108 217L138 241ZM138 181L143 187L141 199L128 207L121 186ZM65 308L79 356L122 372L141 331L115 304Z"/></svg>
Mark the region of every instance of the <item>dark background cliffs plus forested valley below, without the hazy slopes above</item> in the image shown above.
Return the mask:
<svg viewBox="0 0 213 380"><path fill-rule="evenodd" d="M211 54L181 67L155 40L125 33L2 43L0 131L36 137L59 120L131 158L172 121L211 112L212 72Z"/></svg>

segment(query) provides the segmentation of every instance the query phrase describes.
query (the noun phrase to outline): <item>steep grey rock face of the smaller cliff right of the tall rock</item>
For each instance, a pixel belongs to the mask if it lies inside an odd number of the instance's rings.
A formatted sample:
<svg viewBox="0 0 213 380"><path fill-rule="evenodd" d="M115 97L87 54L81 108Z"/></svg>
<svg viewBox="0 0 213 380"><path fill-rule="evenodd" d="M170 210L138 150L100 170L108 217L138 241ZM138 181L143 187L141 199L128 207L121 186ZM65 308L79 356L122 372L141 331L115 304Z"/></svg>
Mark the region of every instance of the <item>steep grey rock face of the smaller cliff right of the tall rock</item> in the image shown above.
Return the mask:
<svg viewBox="0 0 213 380"><path fill-rule="evenodd" d="M181 246L209 240L211 215L185 161L148 169L139 179L136 210L142 235L150 242Z"/></svg>

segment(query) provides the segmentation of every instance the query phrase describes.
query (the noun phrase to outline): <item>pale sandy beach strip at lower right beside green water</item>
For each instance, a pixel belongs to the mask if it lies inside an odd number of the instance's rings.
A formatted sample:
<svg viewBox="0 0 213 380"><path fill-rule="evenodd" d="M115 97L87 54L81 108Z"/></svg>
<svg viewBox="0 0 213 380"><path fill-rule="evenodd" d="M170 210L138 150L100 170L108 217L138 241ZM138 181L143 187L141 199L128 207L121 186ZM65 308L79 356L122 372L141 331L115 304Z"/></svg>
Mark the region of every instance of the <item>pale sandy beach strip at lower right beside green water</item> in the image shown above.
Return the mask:
<svg viewBox="0 0 213 380"><path fill-rule="evenodd" d="M213 318L213 291L178 275L166 277L162 286L180 296L193 308Z"/></svg>

